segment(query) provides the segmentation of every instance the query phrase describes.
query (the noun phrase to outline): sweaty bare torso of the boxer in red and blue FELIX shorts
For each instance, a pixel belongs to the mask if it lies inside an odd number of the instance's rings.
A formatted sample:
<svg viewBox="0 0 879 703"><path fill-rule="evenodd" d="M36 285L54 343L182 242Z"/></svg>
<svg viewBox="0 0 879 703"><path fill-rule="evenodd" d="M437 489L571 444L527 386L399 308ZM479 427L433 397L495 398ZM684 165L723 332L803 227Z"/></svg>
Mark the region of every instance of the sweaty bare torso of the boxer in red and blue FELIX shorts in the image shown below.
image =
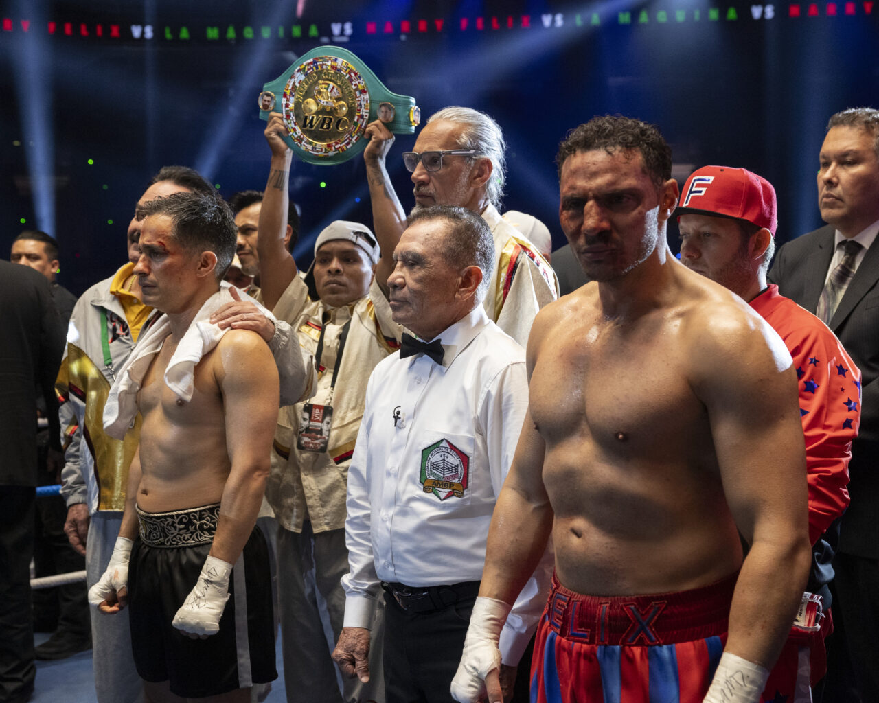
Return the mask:
<svg viewBox="0 0 879 703"><path fill-rule="evenodd" d="M691 387L694 304L607 319L594 284L555 303L534 362L556 572L591 595L683 591L741 563L708 415ZM717 369L717 373L734 373Z"/></svg>

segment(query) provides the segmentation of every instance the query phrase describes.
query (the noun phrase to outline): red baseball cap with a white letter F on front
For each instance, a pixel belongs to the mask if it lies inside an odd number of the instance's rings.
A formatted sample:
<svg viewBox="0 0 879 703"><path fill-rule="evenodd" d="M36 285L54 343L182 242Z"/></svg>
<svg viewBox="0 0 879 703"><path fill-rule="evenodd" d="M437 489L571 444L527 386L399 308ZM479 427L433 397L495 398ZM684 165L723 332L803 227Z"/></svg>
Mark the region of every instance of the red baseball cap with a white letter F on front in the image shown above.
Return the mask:
<svg viewBox="0 0 879 703"><path fill-rule="evenodd" d="M702 166L686 179L677 207L682 214L731 217L765 227L778 227L775 189L766 178L746 169Z"/></svg>

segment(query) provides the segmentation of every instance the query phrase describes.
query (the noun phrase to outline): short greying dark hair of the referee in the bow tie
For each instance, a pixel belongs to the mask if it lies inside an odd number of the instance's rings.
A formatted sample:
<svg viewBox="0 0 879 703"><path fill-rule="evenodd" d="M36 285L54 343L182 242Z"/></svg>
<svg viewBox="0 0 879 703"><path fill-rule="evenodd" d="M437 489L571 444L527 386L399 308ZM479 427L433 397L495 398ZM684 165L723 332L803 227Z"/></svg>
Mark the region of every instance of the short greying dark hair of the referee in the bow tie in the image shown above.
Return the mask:
<svg viewBox="0 0 879 703"><path fill-rule="evenodd" d="M449 223L443 255L452 268L461 271L467 266L479 266L483 270L482 283L476 289L476 301L482 302L494 269L494 236L491 235L488 222L466 207L437 205L410 214L406 225L411 227L425 220Z"/></svg>

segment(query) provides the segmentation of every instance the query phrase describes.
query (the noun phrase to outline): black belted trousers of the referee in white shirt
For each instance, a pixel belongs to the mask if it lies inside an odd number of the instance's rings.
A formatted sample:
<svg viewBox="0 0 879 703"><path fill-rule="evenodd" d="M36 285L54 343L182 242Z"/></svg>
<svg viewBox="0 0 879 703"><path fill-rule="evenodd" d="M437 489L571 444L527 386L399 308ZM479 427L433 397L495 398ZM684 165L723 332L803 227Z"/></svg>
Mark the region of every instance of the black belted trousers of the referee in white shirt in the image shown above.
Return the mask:
<svg viewBox="0 0 879 703"><path fill-rule="evenodd" d="M454 703L449 686L475 602L468 598L442 610L412 613L385 593L387 703Z"/></svg>

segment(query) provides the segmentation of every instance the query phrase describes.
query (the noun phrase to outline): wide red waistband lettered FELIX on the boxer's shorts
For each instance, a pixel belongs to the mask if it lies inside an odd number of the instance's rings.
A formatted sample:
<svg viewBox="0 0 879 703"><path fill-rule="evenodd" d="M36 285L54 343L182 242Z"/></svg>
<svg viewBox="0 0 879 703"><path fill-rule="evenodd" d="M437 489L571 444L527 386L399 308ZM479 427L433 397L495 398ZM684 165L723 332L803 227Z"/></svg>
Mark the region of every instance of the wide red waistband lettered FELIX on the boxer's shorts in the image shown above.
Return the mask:
<svg viewBox="0 0 879 703"><path fill-rule="evenodd" d="M584 596L552 577L544 617L563 637L585 644L657 645L726 632L738 573L692 591L650 596Z"/></svg>

